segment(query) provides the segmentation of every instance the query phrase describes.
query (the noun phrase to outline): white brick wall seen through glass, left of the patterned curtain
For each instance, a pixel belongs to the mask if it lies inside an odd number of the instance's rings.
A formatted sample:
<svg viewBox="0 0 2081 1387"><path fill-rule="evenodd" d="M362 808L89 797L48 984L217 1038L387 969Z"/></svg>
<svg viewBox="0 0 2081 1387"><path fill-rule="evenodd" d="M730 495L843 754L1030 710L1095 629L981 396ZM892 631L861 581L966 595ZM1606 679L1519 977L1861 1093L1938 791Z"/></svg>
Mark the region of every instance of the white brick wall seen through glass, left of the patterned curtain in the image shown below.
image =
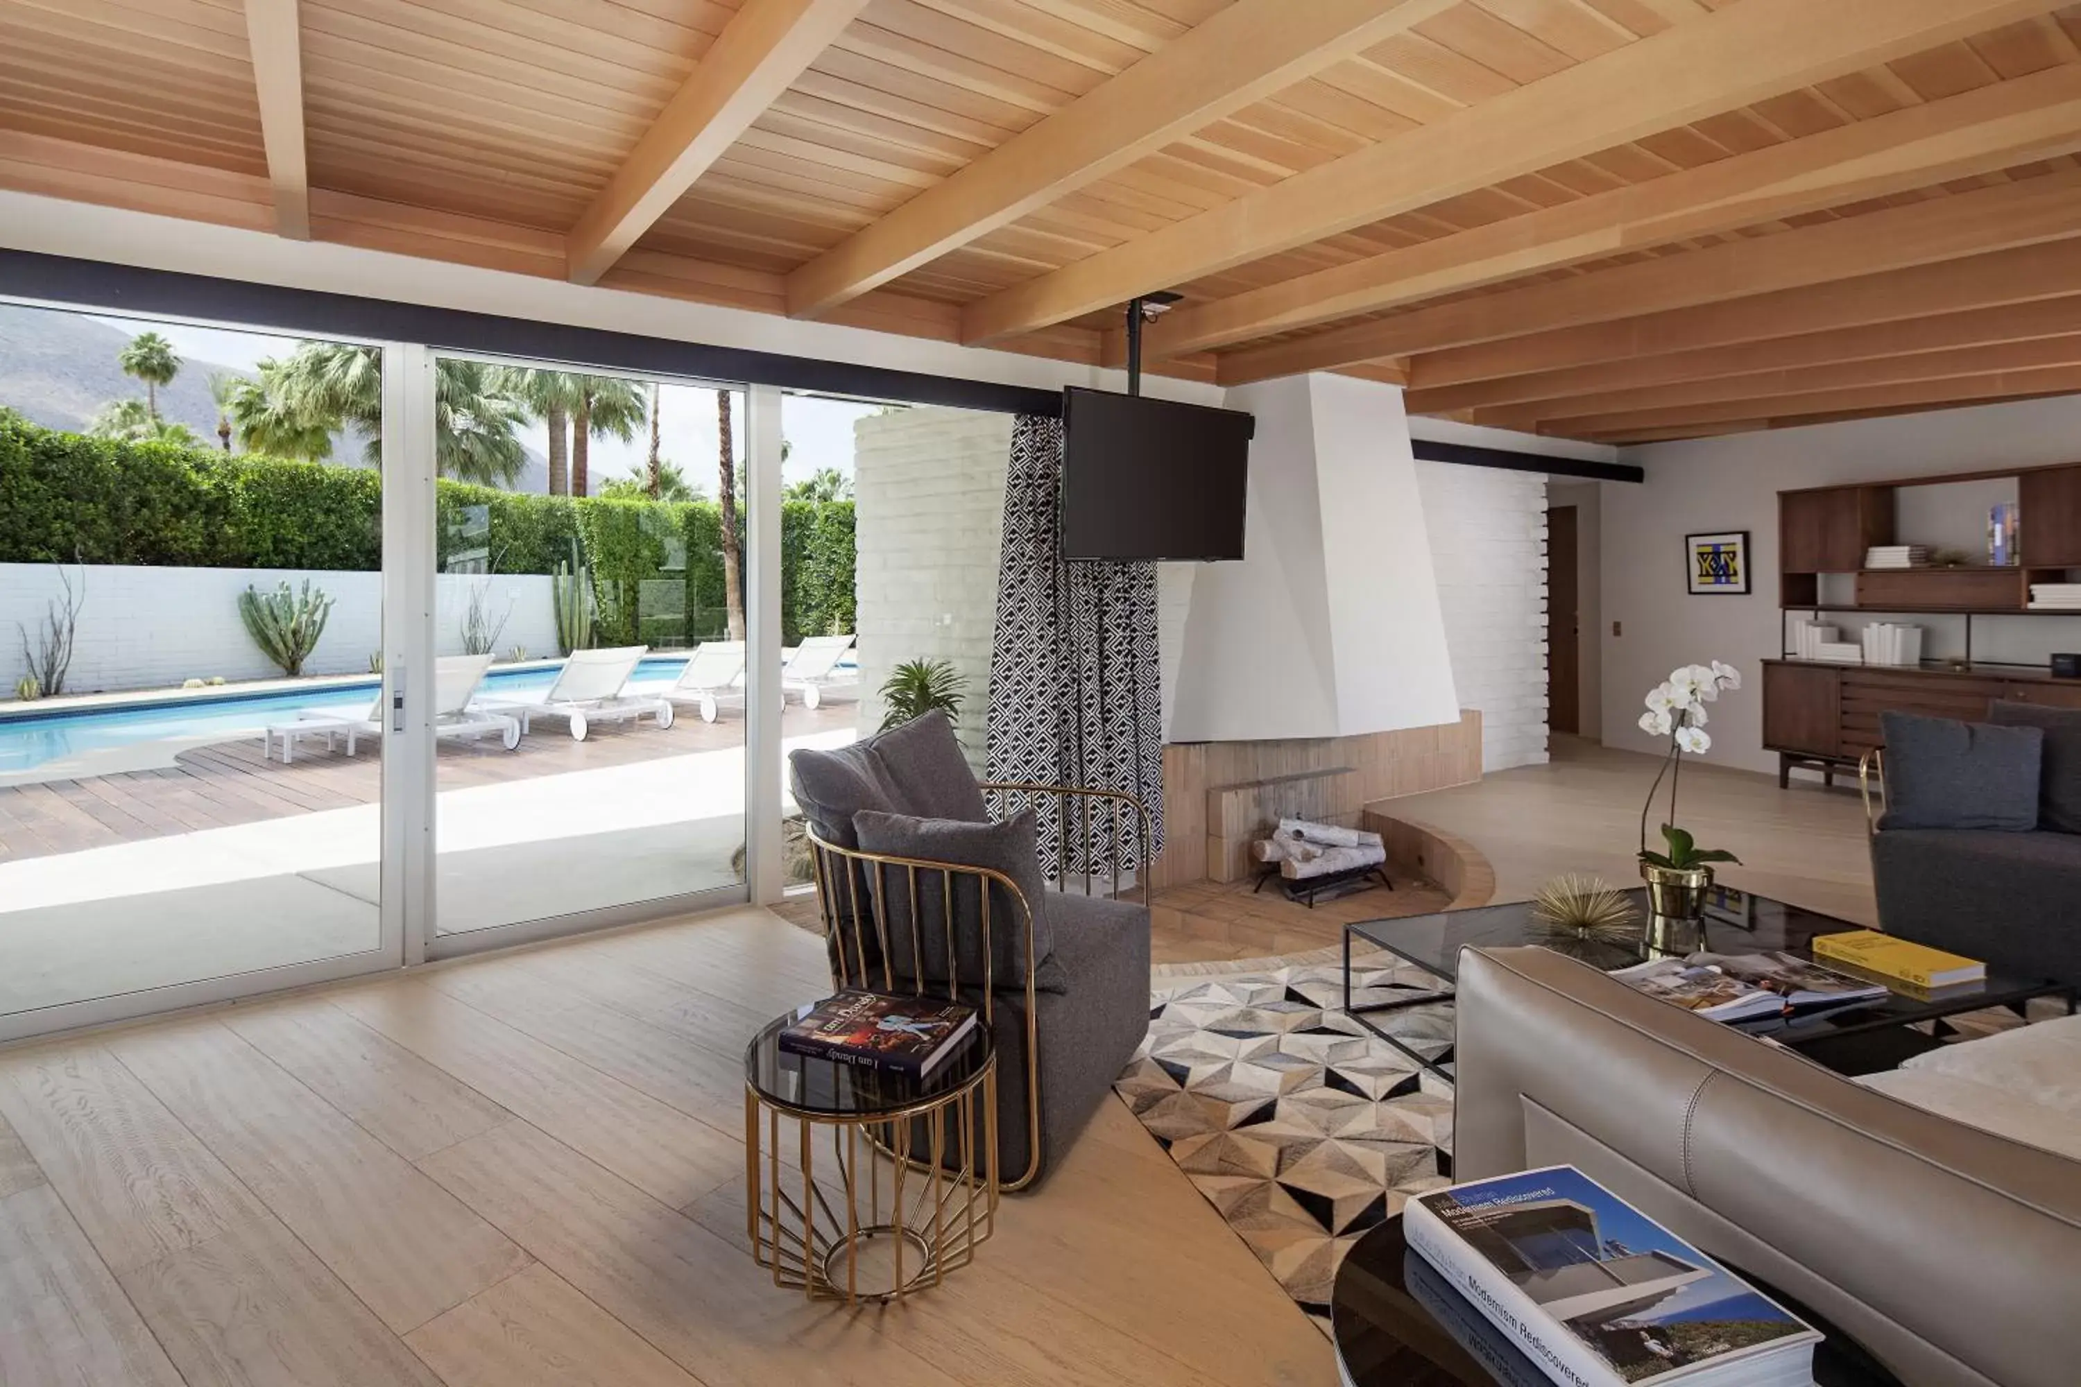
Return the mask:
<svg viewBox="0 0 2081 1387"><path fill-rule="evenodd" d="M968 676L961 742L978 771L1009 462L1009 414L914 408L853 424L859 728L880 726L895 665L951 661Z"/></svg>

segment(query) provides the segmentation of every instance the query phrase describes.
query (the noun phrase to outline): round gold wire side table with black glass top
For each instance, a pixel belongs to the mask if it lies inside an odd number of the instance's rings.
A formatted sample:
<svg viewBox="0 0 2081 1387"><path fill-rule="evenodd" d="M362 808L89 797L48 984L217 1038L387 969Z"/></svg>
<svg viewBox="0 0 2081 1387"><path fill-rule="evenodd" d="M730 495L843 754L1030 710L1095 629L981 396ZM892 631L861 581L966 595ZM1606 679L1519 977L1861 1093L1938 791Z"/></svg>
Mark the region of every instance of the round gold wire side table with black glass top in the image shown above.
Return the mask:
<svg viewBox="0 0 2081 1387"><path fill-rule="evenodd" d="M876 1304L939 1285L997 1229L997 1050L980 1025L924 1079L745 1046L745 1221L774 1285ZM782 1135L782 1119L797 1133ZM828 1133L828 1152L818 1156Z"/></svg>

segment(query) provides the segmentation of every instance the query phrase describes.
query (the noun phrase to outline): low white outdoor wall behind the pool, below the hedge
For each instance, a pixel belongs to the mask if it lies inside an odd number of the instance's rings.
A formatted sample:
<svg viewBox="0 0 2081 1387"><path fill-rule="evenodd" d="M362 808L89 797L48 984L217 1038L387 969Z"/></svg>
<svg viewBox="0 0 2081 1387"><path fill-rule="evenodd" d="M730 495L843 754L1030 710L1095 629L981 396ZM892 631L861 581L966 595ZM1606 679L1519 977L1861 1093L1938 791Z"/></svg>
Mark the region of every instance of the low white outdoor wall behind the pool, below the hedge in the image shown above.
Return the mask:
<svg viewBox="0 0 2081 1387"><path fill-rule="evenodd" d="M62 599L58 568L50 564L0 564L0 697L12 697L27 674L17 622L31 645L52 599ZM281 568L119 568L89 564L62 570L73 593L83 593L73 640L73 668L65 692L123 692L171 688L183 680L264 680L281 670L260 653L239 620L239 593L248 584L262 593L289 582L310 584L331 595L333 611L318 636L318 649L304 674L366 674L368 657L383 649L379 576L362 572L302 572ZM435 578L441 655L462 653L462 618L470 591L483 586L493 624L510 620L497 653L524 645L531 655L556 655L556 611L545 576L454 576Z"/></svg>

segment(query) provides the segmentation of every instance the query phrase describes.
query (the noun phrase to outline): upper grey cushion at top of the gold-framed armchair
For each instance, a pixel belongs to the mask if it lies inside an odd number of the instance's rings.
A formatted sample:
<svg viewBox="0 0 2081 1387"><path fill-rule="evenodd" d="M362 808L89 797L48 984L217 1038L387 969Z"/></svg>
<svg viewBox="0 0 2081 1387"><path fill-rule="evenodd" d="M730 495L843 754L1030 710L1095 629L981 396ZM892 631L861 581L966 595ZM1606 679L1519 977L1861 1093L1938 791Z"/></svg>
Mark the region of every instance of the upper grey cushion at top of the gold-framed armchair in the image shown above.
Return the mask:
<svg viewBox="0 0 2081 1387"><path fill-rule="evenodd" d="M789 776L818 838L841 848L859 846L853 815L862 809L968 823L991 817L953 724L939 709L847 747L789 753Z"/></svg>

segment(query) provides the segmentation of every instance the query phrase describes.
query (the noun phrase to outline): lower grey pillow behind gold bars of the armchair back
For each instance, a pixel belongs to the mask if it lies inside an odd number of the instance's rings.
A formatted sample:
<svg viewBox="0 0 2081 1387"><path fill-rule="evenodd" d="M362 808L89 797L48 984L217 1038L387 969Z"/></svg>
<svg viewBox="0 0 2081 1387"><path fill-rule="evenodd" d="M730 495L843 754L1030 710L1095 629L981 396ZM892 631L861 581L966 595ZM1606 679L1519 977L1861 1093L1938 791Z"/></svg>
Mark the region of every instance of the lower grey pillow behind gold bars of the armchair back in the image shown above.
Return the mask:
<svg viewBox="0 0 2081 1387"><path fill-rule="evenodd" d="M1026 809L1003 823L964 823L957 819L922 819L905 813L862 809L853 815L853 832L864 853L914 857L961 867L991 867L1018 884L1032 911L1034 984L1043 992L1061 992L1068 979L1051 967L1055 934L1049 927L1040 875L1040 848L1034 811ZM918 869L916 898L907 867L876 867L874 896L880 902L882 927L889 932L889 967L905 982L945 984L947 967L947 884L949 873ZM982 988L982 896L978 878L953 873L953 973L961 988ZM911 938L914 923L916 942ZM1026 990L1026 911L1020 911L1001 884L991 882L991 988L995 992Z"/></svg>

